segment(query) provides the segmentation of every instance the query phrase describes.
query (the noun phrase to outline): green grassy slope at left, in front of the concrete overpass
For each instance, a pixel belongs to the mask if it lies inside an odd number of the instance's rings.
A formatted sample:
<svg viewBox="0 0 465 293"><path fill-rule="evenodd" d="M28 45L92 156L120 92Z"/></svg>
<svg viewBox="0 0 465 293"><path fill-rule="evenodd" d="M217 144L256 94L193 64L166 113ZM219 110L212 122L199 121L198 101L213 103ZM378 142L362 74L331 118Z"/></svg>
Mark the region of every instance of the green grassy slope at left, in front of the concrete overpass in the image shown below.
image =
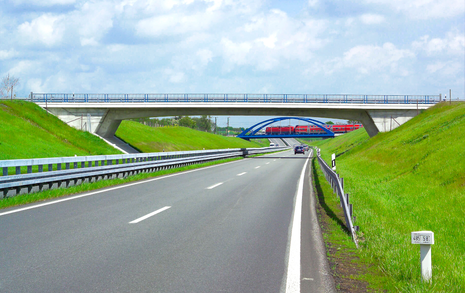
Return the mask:
<svg viewBox="0 0 465 293"><path fill-rule="evenodd" d="M100 138L46 115L33 103L0 101L0 160L117 153Z"/></svg>

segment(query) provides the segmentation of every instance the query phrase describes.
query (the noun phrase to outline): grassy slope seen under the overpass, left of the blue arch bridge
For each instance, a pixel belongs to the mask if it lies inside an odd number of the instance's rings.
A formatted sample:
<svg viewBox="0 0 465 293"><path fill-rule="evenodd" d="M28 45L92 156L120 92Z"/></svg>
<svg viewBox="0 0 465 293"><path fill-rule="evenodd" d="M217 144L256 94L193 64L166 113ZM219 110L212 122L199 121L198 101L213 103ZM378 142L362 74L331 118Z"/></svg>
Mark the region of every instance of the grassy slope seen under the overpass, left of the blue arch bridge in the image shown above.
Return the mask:
<svg viewBox="0 0 465 293"><path fill-rule="evenodd" d="M236 137L215 135L187 127L150 127L134 121L123 121L116 136L142 152L260 147L259 144Z"/></svg>

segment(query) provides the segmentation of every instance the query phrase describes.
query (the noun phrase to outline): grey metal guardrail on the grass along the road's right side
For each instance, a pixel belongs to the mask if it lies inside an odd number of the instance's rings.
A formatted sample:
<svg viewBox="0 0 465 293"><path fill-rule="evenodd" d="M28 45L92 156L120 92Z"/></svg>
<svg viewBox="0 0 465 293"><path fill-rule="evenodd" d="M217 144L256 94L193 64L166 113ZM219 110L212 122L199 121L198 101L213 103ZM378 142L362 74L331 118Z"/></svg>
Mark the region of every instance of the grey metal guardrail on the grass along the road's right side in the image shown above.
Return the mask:
<svg viewBox="0 0 465 293"><path fill-rule="evenodd" d="M339 196L341 201L341 207L344 210L344 218L346 219L346 227L350 231L352 240L355 246L358 248L357 235L355 230L358 230L358 226L353 226L352 223L352 204L349 204L349 193L344 193L344 178L340 178L339 174L334 172L331 167L328 166L325 160L321 158L319 149L316 150L318 163L325 174L326 181L333 188L333 192Z"/></svg>

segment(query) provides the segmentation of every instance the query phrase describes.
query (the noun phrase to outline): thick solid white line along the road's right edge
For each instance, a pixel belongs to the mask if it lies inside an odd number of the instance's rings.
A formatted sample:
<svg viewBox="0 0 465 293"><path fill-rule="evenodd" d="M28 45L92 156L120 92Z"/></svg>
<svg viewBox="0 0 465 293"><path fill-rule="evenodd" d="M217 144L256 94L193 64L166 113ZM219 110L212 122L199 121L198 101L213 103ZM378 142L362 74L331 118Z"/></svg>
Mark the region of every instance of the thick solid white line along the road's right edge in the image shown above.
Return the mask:
<svg viewBox="0 0 465 293"><path fill-rule="evenodd" d="M301 292L301 220L302 220L302 193L305 181L305 169L310 156L307 157L299 179L294 219L292 220L291 243L289 245L289 262L287 265L286 293Z"/></svg>

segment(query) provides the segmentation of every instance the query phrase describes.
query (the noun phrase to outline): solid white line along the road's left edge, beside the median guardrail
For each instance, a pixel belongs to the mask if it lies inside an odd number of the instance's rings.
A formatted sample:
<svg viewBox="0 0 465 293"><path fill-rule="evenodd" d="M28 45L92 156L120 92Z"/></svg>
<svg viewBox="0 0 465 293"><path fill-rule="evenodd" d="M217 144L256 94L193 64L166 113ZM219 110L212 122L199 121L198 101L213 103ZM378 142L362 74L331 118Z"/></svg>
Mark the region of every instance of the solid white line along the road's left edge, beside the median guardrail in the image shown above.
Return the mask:
<svg viewBox="0 0 465 293"><path fill-rule="evenodd" d="M286 150L283 150L283 152L284 151L288 151L288 150L286 149ZM270 155L274 155L274 154L276 154L276 153L266 154L266 155L263 155L263 156L270 156ZM105 189L105 190L98 190L98 191L93 191L93 192L89 192L89 193L84 193L84 194L80 194L80 195L67 197L67 198L62 198L62 199L58 199L58 200L54 200L54 201L51 201L51 202L46 202L46 203L43 203L43 204L30 206L30 207L25 207L25 208L21 208L21 209L13 209L13 210L9 210L9 211L5 211L5 212L0 213L0 216L7 215L7 214L10 214L10 213L14 213L14 212L18 212L18 211L23 211L23 210L26 210L26 209L40 208L40 207L43 207L43 206L48 206L48 205L51 205L51 204L56 204L56 203L59 203L59 202L63 202L63 201L67 201L67 200L71 200L71 199L75 199L75 198L79 198L79 197L84 197L84 196L93 195L93 194L97 194L97 193L101 193L101 192L111 191L111 190L115 190L115 189L119 189L119 188L125 188L125 187L128 187L128 186L133 186L133 185L142 184L142 183L146 183L146 182L150 182L150 181L160 180L160 179L163 179L163 178L182 175L182 174L186 174L186 173L190 173L190 172L194 172L194 171L200 171L200 170L204 170L204 169L208 169L208 168L212 168L212 167L218 167L218 166L227 165L227 164L232 164L232 163L236 163L236 162L243 162L245 160L250 160L250 159L251 158L247 158L247 159L243 159L243 160L237 160L237 161L227 162L227 163L208 166L208 167L203 167L203 168L196 168L196 169L192 169L192 170L188 170L188 171L184 171L184 172L180 172L180 173L174 173L174 174L160 176L160 177L156 177L156 178L152 178L152 179L148 179L148 180L136 181L134 183L119 185L119 186L108 188L108 189Z"/></svg>

